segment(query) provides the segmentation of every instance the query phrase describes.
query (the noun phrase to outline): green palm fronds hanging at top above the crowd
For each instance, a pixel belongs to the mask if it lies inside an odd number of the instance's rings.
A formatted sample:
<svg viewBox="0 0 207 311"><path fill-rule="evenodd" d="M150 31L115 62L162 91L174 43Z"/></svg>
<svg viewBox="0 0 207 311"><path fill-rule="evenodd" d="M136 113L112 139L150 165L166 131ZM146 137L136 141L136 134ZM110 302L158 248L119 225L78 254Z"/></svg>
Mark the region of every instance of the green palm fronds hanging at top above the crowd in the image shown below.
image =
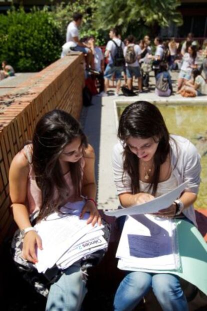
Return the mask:
<svg viewBox="0 0 207 311"><path fill-rule="evenodd" d="M97 0L97 28L119 27L121 33L137 26L168 26L170 21L180 25L177 12L179 0Z"/></svg>

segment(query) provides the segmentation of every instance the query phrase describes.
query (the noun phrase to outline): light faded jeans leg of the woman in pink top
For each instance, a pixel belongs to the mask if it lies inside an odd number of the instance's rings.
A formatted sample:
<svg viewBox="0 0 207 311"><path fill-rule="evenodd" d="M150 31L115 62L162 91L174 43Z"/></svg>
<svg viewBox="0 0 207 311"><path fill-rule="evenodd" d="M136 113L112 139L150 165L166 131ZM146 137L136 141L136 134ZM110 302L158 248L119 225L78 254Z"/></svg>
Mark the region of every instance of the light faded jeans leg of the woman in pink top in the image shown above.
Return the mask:
<svg viewBox="0 0 207 311"><path fill-rule="evenodd" d="M86 291L84 274L75 262L50 286L46 311L78 311Z"/></svg>

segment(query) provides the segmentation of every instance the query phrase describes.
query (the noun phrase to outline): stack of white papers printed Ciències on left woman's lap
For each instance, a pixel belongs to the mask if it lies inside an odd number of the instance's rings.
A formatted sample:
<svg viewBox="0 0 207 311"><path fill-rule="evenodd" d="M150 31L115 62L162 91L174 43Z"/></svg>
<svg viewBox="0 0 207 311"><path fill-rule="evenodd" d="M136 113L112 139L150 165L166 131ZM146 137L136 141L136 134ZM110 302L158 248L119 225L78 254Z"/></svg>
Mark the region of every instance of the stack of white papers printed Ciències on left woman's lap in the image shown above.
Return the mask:
<svg viewBox="0 0 207 311"><path fill-rule="evenodd" d="M103 225L87 224L88 213L79 218L84 201L67 203L61 213L54 212L35 225L43 249L37 248L38 272L44 272L55 263L65 269L86 254L107 247Z"/></svg>

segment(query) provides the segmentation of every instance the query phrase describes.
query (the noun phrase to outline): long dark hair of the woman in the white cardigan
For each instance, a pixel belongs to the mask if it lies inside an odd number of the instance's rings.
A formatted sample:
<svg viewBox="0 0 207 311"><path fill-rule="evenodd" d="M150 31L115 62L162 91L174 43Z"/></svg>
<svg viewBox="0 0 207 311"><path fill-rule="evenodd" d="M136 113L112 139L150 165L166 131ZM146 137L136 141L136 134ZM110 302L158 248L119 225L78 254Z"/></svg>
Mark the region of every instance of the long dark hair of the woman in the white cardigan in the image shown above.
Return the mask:
<svg viewBox="0 0 207 311"><path fill-rule="evenodd" d="M123 141L123 174L127 172L131 178L131 191L133 194L140 192L139 186L139 159L130 151L126 139L137 137L146 139L155 137L158 146L154 154L154 173L149 189L155 195L159 180L160 165L166 160L169 153L169 133L159 109L143 100L138 100L128 105L121 114L118 126L118 138ZM157 141L156 141L157 142ZM122 176L123 180L123 176Z"/></svg>

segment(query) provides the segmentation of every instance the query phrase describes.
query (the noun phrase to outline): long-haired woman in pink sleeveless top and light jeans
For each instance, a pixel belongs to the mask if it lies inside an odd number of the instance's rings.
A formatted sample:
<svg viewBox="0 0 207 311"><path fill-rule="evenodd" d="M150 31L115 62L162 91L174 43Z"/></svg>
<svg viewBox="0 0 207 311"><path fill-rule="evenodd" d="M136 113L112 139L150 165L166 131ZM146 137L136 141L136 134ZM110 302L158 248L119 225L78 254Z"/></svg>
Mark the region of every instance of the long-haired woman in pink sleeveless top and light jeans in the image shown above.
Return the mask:
<svg viewBox="0 0 207 311"><path fill-rule="evenodd" d="M37 122L32 142L11 162L9 191L13 217L23 236L22 257L32 263L38 260L35 247L42 248L31 224L36 213L39 221L85 196L80 217L88 211L87 223L101 223L94 201L94 150L70 114L53 110ZM86 293L83 276L79 262L62 270L50 286L46 310L79 310Z"/></svg>

